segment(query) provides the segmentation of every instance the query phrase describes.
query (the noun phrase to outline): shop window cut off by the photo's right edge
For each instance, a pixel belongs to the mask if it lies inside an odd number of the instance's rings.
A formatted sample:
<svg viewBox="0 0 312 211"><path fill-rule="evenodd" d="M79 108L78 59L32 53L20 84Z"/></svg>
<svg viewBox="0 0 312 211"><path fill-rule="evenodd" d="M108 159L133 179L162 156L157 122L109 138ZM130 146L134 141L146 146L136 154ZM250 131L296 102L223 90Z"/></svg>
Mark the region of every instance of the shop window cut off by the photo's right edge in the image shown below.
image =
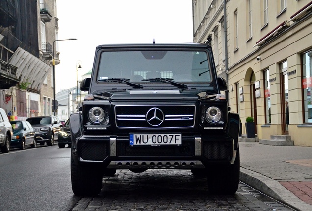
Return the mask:
<svg viewBox="0 0 312 211"><path fill-rule="evenodd" d="M302 69L302 92L304 106L303 121L305 123L312 123L312 51L309 51L302 55Z"/></svg>

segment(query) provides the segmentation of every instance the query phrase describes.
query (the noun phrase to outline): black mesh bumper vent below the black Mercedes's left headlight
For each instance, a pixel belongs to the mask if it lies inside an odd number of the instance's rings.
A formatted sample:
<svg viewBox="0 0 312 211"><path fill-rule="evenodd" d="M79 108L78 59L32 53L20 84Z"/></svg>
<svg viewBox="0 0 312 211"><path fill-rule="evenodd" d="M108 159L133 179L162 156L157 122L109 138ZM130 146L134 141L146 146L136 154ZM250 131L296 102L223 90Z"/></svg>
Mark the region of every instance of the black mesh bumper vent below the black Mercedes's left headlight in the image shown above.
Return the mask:
<svg viewBox="0 0 312 211"><path fill-rule="evenodd" d="M109 155L109 143L86 141L78 142L78 156L83 160L103 161Z"/></svg>

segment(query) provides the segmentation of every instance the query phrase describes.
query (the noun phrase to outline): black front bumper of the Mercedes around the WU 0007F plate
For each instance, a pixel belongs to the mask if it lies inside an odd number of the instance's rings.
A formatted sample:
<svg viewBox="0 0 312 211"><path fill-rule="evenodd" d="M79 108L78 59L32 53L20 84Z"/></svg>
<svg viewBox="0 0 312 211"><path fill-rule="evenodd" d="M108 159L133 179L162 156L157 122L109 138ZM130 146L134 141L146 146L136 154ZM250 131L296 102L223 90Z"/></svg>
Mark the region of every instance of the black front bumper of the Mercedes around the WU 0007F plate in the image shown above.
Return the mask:
<svg viewBox="0 0 312 211"><path fill-rule="evenodd" d="M182 144L130 146L128 137L81 136L72 153L77 164L98 163L109 169L194 169L230 164L236 155L226 136L182 136Z"/></svg>

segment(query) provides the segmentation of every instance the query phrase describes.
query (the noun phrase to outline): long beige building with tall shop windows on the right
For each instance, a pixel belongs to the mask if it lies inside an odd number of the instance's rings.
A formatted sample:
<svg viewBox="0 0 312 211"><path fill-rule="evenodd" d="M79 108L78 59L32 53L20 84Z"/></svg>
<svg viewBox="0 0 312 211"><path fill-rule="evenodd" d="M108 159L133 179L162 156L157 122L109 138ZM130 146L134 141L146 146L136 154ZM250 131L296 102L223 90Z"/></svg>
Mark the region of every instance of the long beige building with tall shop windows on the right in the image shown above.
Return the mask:
<svg viewBox="0 0 312 211"><path fill-rule="evenodd" d="M193 0L193 16L194 42L212 46L242 133L251 116L260 140L312 146L312 1Z"/></svg>

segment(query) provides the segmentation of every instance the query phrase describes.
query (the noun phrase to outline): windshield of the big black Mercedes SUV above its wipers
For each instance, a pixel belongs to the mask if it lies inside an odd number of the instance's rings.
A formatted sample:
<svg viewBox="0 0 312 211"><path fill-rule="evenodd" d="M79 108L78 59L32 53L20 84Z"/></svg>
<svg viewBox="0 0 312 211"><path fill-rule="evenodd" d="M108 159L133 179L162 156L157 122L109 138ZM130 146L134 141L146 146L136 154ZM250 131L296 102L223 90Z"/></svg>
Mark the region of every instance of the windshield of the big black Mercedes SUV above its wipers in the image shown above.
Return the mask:
<svg viewBox="0 0 312 211"><path fill-rule="evenodd" d="M97 81L103 83L109 78L140 84L155 83L144 80L151 78L209 83L212 76L205 51L105 51L101 54Z"/></svg>

